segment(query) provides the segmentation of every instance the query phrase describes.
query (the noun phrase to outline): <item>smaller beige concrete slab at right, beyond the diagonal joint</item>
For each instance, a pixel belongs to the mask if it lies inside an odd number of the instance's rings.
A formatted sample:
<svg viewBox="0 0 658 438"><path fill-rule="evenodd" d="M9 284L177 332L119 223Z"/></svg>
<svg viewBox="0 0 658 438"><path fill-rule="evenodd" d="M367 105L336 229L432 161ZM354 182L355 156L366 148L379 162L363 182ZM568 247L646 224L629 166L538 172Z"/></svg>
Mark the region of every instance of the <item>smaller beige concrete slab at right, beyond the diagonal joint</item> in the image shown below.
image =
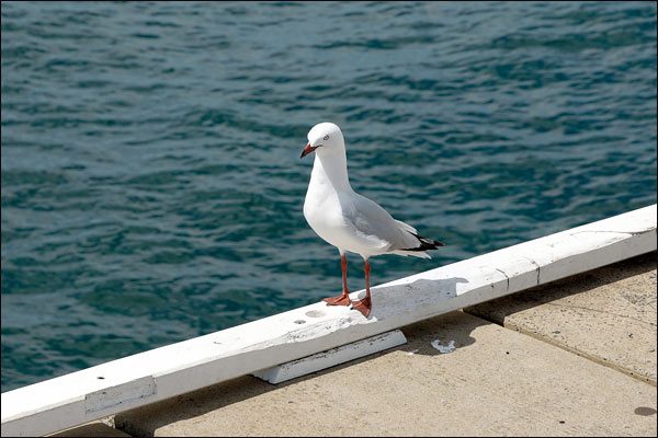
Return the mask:
<svg viewBox="0 0 658 438"><path fill-rule="evenodd" d="M656 385L656 253L464 311Z"/></svg>

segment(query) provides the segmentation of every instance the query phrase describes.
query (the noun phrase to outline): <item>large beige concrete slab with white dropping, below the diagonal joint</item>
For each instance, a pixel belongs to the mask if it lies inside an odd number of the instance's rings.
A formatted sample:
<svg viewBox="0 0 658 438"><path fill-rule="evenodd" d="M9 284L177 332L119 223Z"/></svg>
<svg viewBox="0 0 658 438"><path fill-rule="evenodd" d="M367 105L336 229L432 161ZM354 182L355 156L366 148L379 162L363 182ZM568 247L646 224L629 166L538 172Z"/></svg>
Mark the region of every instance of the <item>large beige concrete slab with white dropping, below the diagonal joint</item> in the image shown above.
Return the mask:
<svg viewBox="0 0 658 438"><path fill-rule="evenodd" d="M241 377L115 424L140 437L656 436L656 388L626 374L458 311L402 332L408 344L349 365L276 387Z"/></svg>

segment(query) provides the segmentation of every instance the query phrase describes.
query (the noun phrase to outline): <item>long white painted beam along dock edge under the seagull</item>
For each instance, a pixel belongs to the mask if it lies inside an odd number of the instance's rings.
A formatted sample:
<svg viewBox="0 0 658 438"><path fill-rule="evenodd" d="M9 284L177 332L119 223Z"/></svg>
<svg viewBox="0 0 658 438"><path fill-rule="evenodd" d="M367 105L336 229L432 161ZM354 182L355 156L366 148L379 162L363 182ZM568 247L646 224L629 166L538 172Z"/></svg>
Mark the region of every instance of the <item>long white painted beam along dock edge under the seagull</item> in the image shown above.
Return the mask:
<svg viewBox="0 0 658 438"><path fill-rule="evenodd" d="M650 251L656 205L377 286L370 319L319 302L5 392L2 436L54 433Z"/></svg>

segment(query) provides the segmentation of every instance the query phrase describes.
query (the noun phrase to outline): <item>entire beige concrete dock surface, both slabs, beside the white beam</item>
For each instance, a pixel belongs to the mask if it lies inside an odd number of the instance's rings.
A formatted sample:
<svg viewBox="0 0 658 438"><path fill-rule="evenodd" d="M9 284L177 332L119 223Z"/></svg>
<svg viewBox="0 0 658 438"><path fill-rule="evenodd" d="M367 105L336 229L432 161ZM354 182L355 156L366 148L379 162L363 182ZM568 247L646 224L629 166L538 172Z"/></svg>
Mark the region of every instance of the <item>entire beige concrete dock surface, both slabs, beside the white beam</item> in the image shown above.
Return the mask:
<svg viewBox="0 0 658 438"><path fill-rule="evenodd" d="M408 344L338 367L56 436L656 436L656 270L645 254L402 327Z"/></svg>

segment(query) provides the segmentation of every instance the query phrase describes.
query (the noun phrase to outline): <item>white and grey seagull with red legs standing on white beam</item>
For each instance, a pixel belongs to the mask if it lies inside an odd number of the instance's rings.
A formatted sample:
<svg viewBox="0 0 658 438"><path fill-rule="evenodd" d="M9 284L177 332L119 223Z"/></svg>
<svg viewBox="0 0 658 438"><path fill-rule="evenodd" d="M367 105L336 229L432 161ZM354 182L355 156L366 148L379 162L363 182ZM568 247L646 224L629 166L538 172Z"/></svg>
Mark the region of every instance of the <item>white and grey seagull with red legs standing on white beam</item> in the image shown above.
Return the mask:
<svg viewBox="0 0 658 438"><path fill-rule="evenodd" d="M338 249L342 270L342 293L324 301L328 306L352 306L367 318L372 310L370 257L397 254L431 258L426 251L444 244L419 235L413 227L394 219L377 203L352 189L345 142L337 125L320 123L308 131L307 138L299 159L315 152L315 161L304 217L316 234ZM347 252L359 254L364 261L365 298L354 302L348 290Z"/></svg>

